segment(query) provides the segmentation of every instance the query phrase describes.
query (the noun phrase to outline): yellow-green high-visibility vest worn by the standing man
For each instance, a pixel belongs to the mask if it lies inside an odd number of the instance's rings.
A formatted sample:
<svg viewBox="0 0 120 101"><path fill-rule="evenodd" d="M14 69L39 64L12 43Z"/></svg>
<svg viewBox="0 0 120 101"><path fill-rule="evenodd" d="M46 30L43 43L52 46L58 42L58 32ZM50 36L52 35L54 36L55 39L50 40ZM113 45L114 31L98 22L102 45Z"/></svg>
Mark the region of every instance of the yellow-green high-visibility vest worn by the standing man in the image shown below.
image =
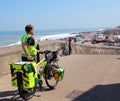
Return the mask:
<svg viewBox="0 0 120 101"><path fill-rule="evenodd" d="M22 46L23 46L24 44L27 44L27 40L28 40L29 37L32 37L32 36L29 35L29 34L23 35L23 37L22 37L22 39L21 39ZM29 52L29 54L30 54L31 56L35 56L35 55L37 54L37 50L36 50L36 48L35 48L35 45L29 45L29 44L28 44L28 52ZM25 53L25 51L24 51L23 49L22 49L22 56L26 57L26 53Z"/></svg>

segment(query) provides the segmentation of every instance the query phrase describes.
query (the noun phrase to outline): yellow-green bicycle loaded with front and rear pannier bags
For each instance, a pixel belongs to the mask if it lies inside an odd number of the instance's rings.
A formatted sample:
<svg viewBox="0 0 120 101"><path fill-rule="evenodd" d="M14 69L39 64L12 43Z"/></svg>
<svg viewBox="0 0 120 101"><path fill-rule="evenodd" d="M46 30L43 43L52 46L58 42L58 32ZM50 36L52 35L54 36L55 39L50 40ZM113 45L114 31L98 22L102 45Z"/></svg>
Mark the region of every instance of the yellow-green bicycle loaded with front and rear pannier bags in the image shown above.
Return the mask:
<svg viewBox="0 0 120 101"><path fill-rule="evenodd" d="M45 79L45 82L50 89L54 89L57 86L58 82L63 79L64 69L62 67L59 67L57 63L60 59L60 57L58 56L59 51L60 48L57 51L46 50L44 52L40 52L40 54L44 54L45 57L38 63L32 61L10 64L12 85L18 87L18 94L23 100L29 100L35 95L38 84L39 88L41 88L40 80L42 79L42 77ZM41 66L39 73L37 73L37 70L35 68L42 63L43 66ZM31 72L31 74L28 73L27 76L34 76L34 78L31 78L31 82L29 82L29 85L27 85L28 82L26 79L26 73L28 71L26 70L26 68L30 66L30 69L32 69L33 72Z"/></svg>

